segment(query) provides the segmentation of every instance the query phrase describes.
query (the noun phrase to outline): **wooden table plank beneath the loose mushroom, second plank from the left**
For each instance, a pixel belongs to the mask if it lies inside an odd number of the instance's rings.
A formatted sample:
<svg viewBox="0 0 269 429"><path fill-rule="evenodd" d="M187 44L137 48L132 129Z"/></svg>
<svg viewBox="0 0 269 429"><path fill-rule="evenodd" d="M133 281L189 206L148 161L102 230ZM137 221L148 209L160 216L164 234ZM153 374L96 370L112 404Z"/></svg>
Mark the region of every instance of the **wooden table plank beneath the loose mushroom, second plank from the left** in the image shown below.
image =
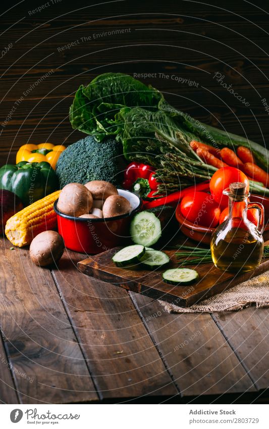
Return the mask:
<svg viewBox="0 0 269 429"><path fill-rule="evenodd" d="M10 250L7 240L0 250L1 326L22 402L97 400L50 271L36 267L28 250Z"/></svg>

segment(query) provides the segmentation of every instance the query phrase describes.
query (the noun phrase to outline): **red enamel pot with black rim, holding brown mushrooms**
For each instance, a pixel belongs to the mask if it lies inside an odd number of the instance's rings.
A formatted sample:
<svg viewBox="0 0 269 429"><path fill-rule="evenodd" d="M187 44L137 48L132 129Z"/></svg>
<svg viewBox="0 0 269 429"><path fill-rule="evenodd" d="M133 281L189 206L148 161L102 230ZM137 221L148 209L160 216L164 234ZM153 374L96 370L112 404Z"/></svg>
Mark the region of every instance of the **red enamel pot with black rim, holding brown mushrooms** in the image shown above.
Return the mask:
<svg viewBox="0 0 269 429"><path fill-rule="evenodd" d="M57 208L58 231L65 246L76 252L97 254L113 247L124 245L130 240L130 222L141 207L140 198L129 190L118 189L119 195L125 197L131 205L131 212L107 219L85 219L66 215Z"/></svg>

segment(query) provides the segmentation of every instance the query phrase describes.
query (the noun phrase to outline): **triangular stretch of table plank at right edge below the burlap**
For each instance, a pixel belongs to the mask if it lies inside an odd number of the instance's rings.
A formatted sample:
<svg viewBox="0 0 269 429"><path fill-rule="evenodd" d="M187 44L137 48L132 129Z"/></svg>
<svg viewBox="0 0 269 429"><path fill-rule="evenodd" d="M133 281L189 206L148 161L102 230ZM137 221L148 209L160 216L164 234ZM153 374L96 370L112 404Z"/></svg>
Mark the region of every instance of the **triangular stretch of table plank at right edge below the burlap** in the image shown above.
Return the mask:
<svg viewBox="0 0 269 429"><path fill-rule="evenodd" d="M233 348L257 389L269 387L269 309L214 313L223 335Z"/></svg>

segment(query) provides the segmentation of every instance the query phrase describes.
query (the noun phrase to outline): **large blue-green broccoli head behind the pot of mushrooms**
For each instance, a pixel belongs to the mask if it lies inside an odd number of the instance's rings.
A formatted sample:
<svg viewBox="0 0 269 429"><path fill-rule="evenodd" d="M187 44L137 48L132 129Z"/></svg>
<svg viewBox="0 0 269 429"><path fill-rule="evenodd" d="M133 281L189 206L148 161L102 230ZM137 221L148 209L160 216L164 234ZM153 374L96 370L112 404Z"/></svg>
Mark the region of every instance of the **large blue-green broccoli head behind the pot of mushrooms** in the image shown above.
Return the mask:
<svg viewBox="0 0 269 429"><path fill-rule="evenodd" d="M90 180L105 180L113 184L120 182L121 145L106 138L100 145L88 136L69 146L56 165L60 188L68 183L85 184Z"/></svg>

